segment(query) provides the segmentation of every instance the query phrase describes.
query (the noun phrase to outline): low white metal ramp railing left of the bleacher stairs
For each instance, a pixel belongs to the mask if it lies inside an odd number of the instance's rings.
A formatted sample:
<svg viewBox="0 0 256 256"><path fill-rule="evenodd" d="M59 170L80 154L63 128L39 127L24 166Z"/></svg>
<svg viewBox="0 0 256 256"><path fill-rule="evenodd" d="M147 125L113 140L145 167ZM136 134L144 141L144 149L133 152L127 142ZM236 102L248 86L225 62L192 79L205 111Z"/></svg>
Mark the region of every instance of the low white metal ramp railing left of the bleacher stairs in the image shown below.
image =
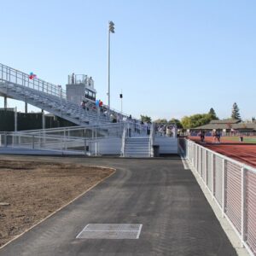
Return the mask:
<svg viewBox="0 0 256 256"><path fill-rule="evenodd" d="M119 154L120 137L61 137L25 133L0 133L0 147L62 152L62 154ZM32 151L33 152L33 151Z"/></svg>

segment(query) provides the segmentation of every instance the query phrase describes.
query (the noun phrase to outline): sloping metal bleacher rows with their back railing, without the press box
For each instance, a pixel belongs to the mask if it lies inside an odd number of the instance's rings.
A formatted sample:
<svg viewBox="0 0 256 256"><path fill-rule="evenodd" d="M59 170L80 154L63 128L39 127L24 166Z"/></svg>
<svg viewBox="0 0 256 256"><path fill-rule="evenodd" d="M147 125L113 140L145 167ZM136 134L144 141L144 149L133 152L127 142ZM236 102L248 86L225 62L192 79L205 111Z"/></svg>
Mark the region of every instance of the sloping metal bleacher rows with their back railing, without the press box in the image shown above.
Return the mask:
<svg viewBox="0 0 256 256"><path fill-rule="evenodd" d="M0 95L27 102L77 125L110 123L105 113L67 101L66 91L60 85L31 78L29 74L3 64L0 64Z"/></svg>

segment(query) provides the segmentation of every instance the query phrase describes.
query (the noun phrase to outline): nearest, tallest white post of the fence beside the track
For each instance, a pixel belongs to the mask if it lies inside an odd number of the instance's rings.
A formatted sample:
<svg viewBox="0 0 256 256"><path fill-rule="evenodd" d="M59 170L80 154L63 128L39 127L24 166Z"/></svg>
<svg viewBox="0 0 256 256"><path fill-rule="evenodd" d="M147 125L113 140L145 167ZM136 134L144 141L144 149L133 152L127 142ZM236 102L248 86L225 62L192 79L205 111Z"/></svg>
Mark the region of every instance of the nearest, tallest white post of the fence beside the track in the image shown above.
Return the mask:
<svg viewBox="0 0 256 256"><path fill-rule="evenodd" d="M241 167L241 246L245 241L247 233L247 171Z"/></svg>

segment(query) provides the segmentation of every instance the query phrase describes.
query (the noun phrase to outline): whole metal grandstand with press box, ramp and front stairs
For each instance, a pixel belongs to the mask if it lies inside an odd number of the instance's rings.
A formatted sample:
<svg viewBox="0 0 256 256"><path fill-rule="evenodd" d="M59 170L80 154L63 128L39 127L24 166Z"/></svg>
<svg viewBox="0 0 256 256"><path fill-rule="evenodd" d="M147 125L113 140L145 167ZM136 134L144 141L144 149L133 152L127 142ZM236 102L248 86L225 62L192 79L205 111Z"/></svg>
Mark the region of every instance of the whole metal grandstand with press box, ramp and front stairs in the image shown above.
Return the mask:
<svg viewBox="0 0 256 256"><path fill-rule="evenodd" d="M3 132L0 134L2 147L124 157L177 154L177 132L166 137L157 132L154 124L148 129L139 120L100 105L96 102L93 80L85 75L70 75L66 92L61 85L0 64L0 96L29 103L78 125Z"/></svg>

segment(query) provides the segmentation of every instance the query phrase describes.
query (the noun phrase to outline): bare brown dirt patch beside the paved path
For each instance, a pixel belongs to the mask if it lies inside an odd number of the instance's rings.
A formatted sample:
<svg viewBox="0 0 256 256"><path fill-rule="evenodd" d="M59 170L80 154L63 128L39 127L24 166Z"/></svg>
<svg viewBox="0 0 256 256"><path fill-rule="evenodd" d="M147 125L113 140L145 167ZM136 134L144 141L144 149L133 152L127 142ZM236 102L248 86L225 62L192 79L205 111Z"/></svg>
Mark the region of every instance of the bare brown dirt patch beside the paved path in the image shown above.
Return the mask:
<svg viewBox="0 0 256 256"><path fill-rule="evenodd" d="M0 247L114 171L0 160Z"/></svg>

